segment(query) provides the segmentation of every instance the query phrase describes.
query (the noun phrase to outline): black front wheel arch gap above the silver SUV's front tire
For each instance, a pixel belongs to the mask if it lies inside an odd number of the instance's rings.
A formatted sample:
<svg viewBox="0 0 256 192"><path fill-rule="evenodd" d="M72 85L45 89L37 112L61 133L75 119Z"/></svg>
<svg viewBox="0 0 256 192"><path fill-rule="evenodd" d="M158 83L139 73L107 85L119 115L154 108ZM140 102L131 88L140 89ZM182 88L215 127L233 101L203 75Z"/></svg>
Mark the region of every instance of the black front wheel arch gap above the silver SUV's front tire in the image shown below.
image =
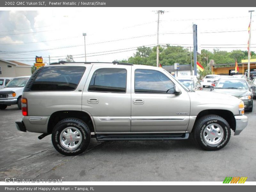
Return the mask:
<svg viewBox="0 0 256 192"><path fill-rule="evenodd" d="M222 118L224 118L228 122L230 128L234 132L236 131L236 119L235 119L234 114L231 111L224 110L224 109L206 109L206 110L201 111L196 116L196 120L195 120L194 126L195 126L196 122L198 121L198 119L200 117L202 117L202 116L205 116L205 115L218 115L218 116L221 116ZM192 129L192 132L194 130L194 126L193 126L193 129Z"/></svg>

